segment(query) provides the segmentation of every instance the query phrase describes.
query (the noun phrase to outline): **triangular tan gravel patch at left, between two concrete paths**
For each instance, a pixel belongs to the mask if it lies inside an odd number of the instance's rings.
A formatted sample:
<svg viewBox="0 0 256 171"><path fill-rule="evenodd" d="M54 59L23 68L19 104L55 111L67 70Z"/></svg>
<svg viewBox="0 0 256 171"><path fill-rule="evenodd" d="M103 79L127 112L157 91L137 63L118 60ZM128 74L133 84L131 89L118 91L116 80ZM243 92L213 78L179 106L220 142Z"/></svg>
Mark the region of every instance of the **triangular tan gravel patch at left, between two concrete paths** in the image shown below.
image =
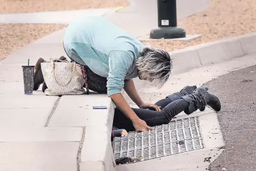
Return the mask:
<svg viewBox="0 0 256 171"><path fill-rule="evenodd" d="M0 61L30 42L65 28L62 24L0 24Z"/></svg>

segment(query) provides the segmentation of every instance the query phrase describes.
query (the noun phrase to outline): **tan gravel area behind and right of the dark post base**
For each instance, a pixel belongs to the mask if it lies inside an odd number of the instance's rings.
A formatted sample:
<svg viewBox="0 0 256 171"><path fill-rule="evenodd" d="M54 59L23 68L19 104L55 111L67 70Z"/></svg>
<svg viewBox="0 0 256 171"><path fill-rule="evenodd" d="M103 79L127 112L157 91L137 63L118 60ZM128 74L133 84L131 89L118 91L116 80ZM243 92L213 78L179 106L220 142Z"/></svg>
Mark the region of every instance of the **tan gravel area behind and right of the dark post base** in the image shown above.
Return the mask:
<svg viewBox="0 0 256 171"><path fill-rule="evenodd" d="M201 34L201 39L188 43L180 41L143 42L147 46L173 51L205 42L217 41L218 39L256 32L255 23L255 0L212 0L205 11L178 22L178 25L185 28L187 34Z"/></svg>

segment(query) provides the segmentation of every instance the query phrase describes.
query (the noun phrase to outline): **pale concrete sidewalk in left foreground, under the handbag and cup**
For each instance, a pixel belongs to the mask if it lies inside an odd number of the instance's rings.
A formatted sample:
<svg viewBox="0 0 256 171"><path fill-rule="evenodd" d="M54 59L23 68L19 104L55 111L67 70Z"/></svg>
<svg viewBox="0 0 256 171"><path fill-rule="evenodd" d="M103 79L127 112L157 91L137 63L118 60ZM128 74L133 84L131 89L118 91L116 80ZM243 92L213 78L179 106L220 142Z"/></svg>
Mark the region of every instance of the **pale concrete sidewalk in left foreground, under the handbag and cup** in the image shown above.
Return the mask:
<svg viewBox="0 0 256 171"><path fill-rule="evenodd" d="M106 95L24 95L22 65L65 52L62 44L29 44L0 63L0 170L113 170L114 105ZM93 110L93 106L107 110ZM97 132L97 134L95 134ZM100 134L100 136L97 136ZM95 138L96 137L96 138ZM98 146L98 151L91 146ZM98 168L97 168L97 167Z"/></svg>

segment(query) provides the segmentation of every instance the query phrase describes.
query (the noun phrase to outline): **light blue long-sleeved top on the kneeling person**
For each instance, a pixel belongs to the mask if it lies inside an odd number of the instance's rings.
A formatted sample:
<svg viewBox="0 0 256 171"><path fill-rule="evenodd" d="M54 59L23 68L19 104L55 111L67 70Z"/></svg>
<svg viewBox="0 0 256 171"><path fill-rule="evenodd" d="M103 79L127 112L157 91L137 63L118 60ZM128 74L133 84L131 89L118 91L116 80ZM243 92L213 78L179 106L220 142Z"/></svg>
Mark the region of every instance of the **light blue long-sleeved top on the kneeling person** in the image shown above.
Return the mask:
<svg viewBox="0 0 256 171"><path fill-rule="evenodd" d="M125 79L138 76L135 61L144 47L102 16L79 18L69 24L64 35L69 57L107 78L109 96L121 93Z"/></svg>

